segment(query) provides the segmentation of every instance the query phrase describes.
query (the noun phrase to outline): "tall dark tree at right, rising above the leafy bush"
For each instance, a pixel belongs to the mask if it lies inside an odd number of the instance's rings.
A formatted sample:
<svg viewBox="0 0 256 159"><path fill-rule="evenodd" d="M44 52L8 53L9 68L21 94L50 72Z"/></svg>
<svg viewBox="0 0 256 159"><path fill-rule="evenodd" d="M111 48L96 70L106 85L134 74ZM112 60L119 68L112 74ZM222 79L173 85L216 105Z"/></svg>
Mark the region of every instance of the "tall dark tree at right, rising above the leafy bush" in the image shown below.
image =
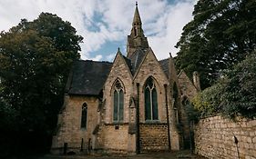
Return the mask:
<svg viewBox="0 0 256 159"><path fill-rule="evenodd" d="M183 28L176 65L191 77L200 73L202 88L256 48L256 2L200 0Z"/></svg>

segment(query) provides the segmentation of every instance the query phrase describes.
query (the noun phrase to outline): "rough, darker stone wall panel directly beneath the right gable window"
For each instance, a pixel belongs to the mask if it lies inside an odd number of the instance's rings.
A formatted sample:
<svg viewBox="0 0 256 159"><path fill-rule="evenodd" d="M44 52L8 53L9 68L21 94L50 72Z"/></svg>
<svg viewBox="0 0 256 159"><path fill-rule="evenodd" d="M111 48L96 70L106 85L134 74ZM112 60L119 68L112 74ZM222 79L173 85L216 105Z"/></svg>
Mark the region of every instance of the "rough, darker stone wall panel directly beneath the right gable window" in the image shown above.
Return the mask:
<svg viewBox="0 0 256 159"><path fill-rule="evenodd" d="M140 124L139 132L142 153L169 149L167 124Z"/></svg>

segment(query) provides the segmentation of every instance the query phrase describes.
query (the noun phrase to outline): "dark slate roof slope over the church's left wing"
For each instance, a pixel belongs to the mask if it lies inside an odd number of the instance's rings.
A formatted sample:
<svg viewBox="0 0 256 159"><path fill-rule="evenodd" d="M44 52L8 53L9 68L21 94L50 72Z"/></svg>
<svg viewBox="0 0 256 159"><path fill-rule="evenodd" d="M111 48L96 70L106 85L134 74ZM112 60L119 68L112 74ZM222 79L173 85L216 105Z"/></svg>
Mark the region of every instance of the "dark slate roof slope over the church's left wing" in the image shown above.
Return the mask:
<svg viewBox="0 0 256 159"><path fill-rule="evenodd" d="M99 94L111 66L108 62L76 61L68 77L67 94Z"/></svg>

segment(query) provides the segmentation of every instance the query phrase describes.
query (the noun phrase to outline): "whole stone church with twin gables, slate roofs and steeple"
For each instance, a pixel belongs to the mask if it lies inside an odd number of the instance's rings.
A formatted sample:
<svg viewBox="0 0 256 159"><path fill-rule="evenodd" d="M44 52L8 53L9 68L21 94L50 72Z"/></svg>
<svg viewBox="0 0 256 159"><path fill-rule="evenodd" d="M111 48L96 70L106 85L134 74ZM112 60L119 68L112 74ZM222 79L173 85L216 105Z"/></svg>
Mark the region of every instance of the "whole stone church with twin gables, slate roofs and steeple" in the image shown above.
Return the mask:
<svg viewBox="0 0 256 159"><path fill-rule="evenodd" d="M136 5L126 55L118 49L113 63L79 60L73 65L52 152L138 154L185 148L185 106L198 91L197 73L191 82L183 71L177 74L171 55L156 58Z"/></svg>

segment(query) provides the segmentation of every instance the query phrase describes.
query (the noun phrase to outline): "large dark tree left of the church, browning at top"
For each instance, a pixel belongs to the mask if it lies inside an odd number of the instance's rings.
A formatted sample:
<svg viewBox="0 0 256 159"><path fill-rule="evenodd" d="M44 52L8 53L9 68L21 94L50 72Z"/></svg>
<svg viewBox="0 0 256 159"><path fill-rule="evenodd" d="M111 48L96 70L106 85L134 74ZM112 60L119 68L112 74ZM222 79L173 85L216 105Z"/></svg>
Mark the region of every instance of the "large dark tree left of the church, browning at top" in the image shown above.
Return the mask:
<svg viewBox="0 0 256 159"><path fill-rule="evenodd" d="M0 34L0 96L15 110L20 134L38 134L44 142L53 133L82 39L69 22L47 13Z"/></svg>

